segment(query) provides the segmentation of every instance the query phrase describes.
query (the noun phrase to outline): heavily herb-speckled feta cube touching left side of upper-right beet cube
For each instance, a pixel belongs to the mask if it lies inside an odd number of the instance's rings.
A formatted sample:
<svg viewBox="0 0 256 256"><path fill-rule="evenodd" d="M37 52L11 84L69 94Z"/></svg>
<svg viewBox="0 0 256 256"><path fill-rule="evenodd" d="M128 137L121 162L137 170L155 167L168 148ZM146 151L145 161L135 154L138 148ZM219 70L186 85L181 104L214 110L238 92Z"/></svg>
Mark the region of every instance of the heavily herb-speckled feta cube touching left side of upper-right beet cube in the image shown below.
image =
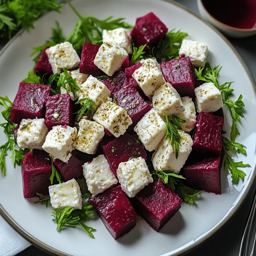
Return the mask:
<svg viewBox="0 0 256 256"><path fill-rule="evenodd" d="M156 89L165 83L156 60L141 60L141 67L134 71L132 77L136 80L147 96L152 96Z"/></svg>

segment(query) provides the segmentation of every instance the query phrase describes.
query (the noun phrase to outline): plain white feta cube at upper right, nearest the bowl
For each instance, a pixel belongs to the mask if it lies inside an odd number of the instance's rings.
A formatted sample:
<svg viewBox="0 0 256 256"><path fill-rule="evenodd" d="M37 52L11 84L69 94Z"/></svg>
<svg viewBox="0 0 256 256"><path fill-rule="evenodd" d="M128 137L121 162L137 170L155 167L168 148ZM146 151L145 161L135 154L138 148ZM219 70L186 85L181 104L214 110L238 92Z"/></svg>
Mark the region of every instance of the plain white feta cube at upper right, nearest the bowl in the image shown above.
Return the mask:
<svg viewBox="0 0 256 256"><path fill-rule="evenodd" d="M208 54L208 47L203 43L183 39L179 50L179 55L182 54L185 54L185 57L189 57L193 65L204 67Z"/></svg>

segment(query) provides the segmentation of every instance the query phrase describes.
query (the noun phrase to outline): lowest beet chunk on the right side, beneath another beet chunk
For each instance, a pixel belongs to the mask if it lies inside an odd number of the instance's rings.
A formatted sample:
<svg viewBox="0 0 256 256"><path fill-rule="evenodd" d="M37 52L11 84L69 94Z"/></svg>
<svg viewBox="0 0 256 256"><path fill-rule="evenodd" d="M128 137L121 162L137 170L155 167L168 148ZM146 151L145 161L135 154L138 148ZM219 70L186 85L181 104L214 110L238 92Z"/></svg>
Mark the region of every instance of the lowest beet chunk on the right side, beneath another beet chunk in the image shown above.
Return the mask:
<svg viewBox="0 0 256 256"><path fill-rule="evenodd" d="M184 166L186 184L194 189L221 194L220 157L203 159Z"/></svg>

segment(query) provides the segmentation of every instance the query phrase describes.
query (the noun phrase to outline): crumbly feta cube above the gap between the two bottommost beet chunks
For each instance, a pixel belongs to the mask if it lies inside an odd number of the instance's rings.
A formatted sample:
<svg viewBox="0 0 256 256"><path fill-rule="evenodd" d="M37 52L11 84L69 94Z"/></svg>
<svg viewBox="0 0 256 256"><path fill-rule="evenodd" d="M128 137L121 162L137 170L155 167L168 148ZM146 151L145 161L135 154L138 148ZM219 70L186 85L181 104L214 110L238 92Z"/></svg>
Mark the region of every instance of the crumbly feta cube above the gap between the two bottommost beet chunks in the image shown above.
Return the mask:
<svg viewBox="0 0 256 256"><path fill-rule="evenodd" d="M136 196L146 185L153 182L146 161L142 157L121 162L117 169L117 178L129 197Z"/></svg>

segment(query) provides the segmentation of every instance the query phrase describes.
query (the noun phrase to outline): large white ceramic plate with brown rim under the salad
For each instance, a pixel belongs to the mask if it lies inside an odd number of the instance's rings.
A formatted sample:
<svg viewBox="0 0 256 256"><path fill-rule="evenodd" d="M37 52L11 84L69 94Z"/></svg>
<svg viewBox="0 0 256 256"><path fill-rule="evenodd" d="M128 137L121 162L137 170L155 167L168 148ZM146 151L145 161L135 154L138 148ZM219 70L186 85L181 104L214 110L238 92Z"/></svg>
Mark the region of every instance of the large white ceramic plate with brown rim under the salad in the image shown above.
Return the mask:
<svg viewBox="0 0 256 256"><path fill-rule="evenodd" d="M239 155L239 160L249 163L252 168L244 168L247 176L244 183L232 185L229 174L221 172L222 195L202 193L197 205L182 204L180 211L161 229L155 232L145 221L139 220L134 229L115 241L100 219L90 221L89 226L97 229L96 239L91 239L80 229L67 229L58 233L51 220L51 207L45 208L25 200L22 193L21 168L13 168L7 159L7 176L0 175L0 212L3 217L27 240L44 250L59 255L180 255L200 244L216 232L238 209L247 195L255 177L255 87L252 77L241 58L215 29L200 18L177 4L156 0L75 0L75 8L84 15L106 18L125 17L134 24L135 19L153 11L170 29L182 29L192 40L208 45L211 65L223 65L221 82L235 81L235 98L244 96L245 118L239 126L241 135L237 140L247 147L248 156ZM0 95L14 99L19 82L32 69L30 53L33 46L41 45L51 36L55 20L60 22L64 34L74 28L77 17L69 6L64 6L62 14L49 13L35 23L29 34L20 33L0 54ZM2 120L0 120L2 122ZM225 113L224 130L230 131L231 120ZM0 141L6 140L1 131ZM1 144L2 144L1 143Z"/></svg>

